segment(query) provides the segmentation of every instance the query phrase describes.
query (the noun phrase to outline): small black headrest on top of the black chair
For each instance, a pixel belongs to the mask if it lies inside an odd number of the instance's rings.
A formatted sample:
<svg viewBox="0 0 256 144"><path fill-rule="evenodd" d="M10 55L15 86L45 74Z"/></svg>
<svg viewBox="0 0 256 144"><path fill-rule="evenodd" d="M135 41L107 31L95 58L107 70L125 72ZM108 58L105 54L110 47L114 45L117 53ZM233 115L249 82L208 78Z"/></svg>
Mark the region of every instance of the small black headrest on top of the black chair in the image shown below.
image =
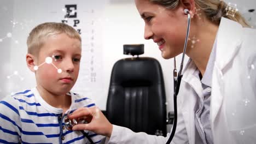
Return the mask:
<svg viewBox="0 0 256 144"><path fill-rule="evenodd" d="M144 44L124 45L124 55L142 55L144 53Z"/></svg>

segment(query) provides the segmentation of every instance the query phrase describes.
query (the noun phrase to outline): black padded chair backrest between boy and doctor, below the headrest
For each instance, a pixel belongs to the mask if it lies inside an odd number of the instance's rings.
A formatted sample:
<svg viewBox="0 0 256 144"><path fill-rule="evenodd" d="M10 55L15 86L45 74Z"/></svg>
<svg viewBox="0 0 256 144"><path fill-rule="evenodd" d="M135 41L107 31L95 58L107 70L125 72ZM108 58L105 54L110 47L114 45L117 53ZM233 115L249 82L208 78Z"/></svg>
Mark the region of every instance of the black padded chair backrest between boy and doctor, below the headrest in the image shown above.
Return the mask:
<svg viewBox="0 0 256 144"><path fill-rule="evenodd" d="M120 59L112 69L106 115L135 132L166 135L166 96L160 63L149 57Z"/></svg>

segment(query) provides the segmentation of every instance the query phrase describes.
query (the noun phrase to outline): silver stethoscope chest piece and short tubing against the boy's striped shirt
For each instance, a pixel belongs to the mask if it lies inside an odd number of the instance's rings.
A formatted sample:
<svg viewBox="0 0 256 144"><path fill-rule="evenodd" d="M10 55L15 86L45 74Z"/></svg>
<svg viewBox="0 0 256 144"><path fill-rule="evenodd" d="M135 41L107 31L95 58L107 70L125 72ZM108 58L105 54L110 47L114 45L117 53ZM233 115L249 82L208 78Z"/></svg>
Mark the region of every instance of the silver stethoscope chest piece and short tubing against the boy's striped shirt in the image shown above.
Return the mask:
<svg viewBox="0 0 256 144"><path fill-rule="evenodd" d="M82 121L78 122L76 119L69 119L68 117L66 117L65 120L64 120L65 127L68 130L72 130L74 125L77 125L78 123L84 123L85 124L85 123L88 123L88 122L86 122L85 120L82 120ZM89 142L91 144L95 144L94 141L91 140L91 137L88 135L88 133L85 133L84 130L80 130L80 132L89 140Z"/></svg>

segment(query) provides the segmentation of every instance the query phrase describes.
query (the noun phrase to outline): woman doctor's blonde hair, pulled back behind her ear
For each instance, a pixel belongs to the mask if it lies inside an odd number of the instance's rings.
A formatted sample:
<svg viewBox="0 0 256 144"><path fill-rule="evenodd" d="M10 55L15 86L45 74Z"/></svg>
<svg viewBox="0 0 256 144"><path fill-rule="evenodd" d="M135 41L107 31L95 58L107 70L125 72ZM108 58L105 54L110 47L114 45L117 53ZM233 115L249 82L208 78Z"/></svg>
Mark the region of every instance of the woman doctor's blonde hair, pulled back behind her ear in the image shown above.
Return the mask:
<svg viewBox="0 0 256 144"><path fill-rule="evenodd" d="M162 5L168 9L177 8L181 0L149 0L155 4ZM219 24L222 17L226 17L230 20L240 23L243 27L249 27L249 24L246 22L245 18L238 12L235 12L235 15L227 15L229 7L224 1L220 0L194 0L197 7L200 8L203 13L206 15L207 19Z"/></svg>

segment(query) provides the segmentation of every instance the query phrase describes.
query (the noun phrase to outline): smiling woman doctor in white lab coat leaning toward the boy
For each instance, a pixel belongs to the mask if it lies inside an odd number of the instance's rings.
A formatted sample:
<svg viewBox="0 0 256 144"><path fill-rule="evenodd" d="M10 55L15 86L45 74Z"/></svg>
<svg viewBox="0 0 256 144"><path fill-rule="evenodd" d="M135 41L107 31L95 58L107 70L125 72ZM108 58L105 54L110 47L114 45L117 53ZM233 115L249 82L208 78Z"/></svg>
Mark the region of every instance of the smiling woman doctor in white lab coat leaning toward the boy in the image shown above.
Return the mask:
<svg viewBox="0 0 256 144"><path fill-rule="evenodd" d="M256 142L256 31L234 8L219 0L135 0L145 22L144 38L159 46L165 59L183 52L191 15L184 69L178 94L178 121L172 143ZM193 41L192 39L199 39ZM69 118L90 123L108 143L165 143L167 137L134 133L112 125L97 107L82 108Z"/></svg>

